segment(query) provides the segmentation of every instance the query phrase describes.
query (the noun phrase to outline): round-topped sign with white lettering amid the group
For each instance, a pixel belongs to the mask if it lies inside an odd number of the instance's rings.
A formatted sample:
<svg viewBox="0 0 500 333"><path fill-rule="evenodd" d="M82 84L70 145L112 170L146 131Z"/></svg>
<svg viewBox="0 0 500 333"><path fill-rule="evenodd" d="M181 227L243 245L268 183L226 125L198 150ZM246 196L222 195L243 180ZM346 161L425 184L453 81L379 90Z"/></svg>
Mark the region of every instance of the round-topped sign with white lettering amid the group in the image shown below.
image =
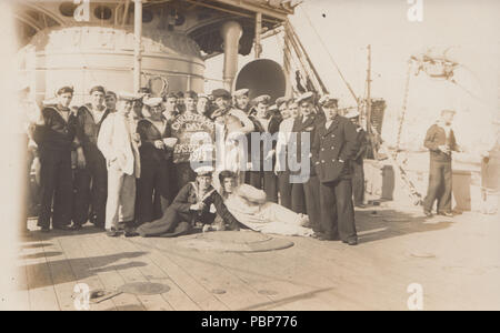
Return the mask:
<svg viewBox="0 0 500 333"><path fill-rule="evenodd" d="M173 148L173 163L211 160L214 124L204 115L183 113L171 124L172 137L179 141Z"/></svg>

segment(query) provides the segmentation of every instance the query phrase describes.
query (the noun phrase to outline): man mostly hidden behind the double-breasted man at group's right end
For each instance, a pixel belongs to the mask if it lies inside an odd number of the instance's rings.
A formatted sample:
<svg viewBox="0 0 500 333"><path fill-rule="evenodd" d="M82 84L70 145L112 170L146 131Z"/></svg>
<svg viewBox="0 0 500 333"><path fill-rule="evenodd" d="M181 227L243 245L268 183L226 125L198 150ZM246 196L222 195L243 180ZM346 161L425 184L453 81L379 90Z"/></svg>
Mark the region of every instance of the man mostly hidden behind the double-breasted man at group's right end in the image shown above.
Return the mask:
<svg viewBox="0 0 500 333"><path fill-rule="evenodd" d="M359 124L359 112L353 110L346 114L354 125L358 132L358 147L359 150L352 159L352 192L354 194L354 205L358 208L364 208L364 167L363 160L368 150L367 132Z"/></svg>

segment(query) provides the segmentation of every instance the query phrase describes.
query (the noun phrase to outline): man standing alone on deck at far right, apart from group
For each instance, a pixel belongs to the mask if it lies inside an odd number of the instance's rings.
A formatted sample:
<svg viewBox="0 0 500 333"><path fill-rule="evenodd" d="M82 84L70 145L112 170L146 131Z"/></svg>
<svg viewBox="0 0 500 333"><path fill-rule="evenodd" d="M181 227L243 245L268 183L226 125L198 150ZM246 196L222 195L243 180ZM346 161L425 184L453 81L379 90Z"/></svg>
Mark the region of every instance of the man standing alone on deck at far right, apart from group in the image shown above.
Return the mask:
<svg viewBox="0 0 500 333"><path fill-rule="evenodd" d="M423 200L423 213L432 216L432 206L438 200L438 214L453 216L451 211L451 152L462 152L454 139L451 123L453 110L442 110L441 118L427 131L423 145L430 152L429 188Z"/></svg>

